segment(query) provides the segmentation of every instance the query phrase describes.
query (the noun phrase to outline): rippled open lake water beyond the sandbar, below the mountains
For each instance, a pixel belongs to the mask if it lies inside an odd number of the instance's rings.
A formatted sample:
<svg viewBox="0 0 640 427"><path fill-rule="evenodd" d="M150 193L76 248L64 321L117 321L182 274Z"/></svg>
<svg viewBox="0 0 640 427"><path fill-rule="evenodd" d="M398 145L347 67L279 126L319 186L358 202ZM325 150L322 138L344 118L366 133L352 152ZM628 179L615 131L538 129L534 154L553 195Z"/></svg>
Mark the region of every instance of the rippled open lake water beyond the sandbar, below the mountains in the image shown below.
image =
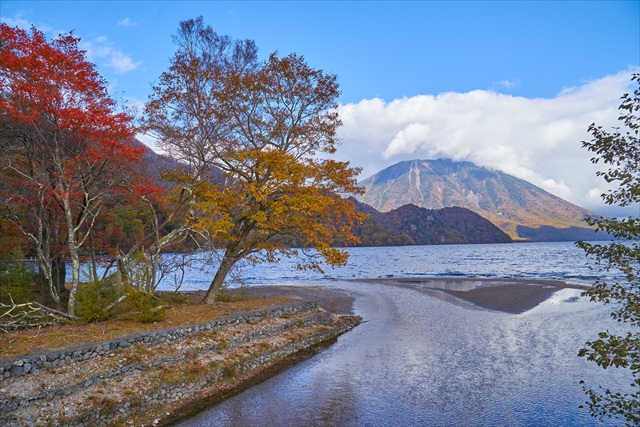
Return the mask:
<svg viewBox="0 0 640 427"><path fill-rule="evenodd" d="M325 268L324 274L299 271L295 259L274 264L245 266L239 283L247 285L304 284L317 280L384 277L506 277L552 279L575 284L593 283L597 270L572 242L511 243L491 245L394 246L347 248L345 267ZM178 257L179 255L169 255ZM213 271L196 259L187 269L181 289L206 289ZM159 289L174 289L174 277Z"/></svg>

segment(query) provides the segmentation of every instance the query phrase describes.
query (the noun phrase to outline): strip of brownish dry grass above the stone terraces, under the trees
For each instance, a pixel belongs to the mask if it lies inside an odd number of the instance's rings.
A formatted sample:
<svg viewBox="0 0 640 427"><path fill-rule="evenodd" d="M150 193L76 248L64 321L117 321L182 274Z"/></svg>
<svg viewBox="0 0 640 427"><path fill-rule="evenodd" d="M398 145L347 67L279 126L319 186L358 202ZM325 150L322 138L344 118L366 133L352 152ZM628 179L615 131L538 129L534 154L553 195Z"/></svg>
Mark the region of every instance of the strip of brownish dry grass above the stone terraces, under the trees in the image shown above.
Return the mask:
<svg viewBox="0 0 640 427"><path fill-rule="evenodd" d="M135 320L112 319L89 324L67 324L45 329L0 334L0 360L34 352L57 350L79 343L102 342L147 330L170 329L203 323L219 317L252 310L289 304L291 298L246 298L211 305L200 304L200 297L188 297L176 302L163 298L167 305L164 320L141 323Z"/></svg>

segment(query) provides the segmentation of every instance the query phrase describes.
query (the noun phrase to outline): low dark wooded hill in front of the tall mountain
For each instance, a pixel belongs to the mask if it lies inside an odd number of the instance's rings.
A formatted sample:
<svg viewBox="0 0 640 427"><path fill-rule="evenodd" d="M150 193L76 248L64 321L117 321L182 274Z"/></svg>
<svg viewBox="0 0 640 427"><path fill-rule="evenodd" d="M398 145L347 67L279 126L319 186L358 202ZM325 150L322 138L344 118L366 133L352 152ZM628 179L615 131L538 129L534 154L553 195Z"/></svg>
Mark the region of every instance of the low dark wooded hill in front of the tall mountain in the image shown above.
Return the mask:
<svg viewBox="0 0 640 427"><path fill-rule="evenodd" d="M465 208L425 209L404 205L379 212L351 199L369 217L353 230L362 246L510 243L511 238L491 222Z"/></svg>

